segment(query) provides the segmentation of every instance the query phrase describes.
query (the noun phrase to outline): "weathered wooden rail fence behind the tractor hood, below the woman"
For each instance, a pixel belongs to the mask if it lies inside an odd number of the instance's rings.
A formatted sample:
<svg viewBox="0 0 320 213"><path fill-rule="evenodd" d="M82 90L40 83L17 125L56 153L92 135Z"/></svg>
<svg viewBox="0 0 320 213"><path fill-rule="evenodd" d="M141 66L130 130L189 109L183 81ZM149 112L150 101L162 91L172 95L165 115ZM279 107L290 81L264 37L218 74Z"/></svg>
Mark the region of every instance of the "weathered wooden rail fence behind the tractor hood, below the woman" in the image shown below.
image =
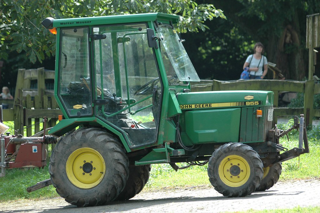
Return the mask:
<svg viewBox="0 0 320 213"><path fill-rule="evenodd" d="M306 124L312 125L313 117L320 117L320 109L313 108L313 99L315 94L320 93L320 84L315 76L314 80L292 81L292 80L235 80L218 81L202 80L193 82L191 91L219 91L219 90L264 90L273 91L274 96L274 124L278 116L290 116L304 114ZM304 107L279 107L279 92L298 92L304 93Z"/></svg>

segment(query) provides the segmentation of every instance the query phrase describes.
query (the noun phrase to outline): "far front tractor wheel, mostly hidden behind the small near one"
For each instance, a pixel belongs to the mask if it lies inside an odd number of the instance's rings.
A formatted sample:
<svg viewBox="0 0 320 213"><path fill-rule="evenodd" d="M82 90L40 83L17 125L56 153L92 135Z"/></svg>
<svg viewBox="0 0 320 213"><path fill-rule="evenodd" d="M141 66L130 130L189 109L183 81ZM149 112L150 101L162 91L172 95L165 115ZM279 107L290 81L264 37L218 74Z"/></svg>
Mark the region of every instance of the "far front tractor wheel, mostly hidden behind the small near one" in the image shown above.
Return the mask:
<svg viewBox="0 0 320 213"><path fill-rule="evenodd" d="M278 182L281 172L281 163L276 163L271 167L263 168L261 184L256 191L265 191L270 189L274 184L276 184L276 182Z"/></svg>

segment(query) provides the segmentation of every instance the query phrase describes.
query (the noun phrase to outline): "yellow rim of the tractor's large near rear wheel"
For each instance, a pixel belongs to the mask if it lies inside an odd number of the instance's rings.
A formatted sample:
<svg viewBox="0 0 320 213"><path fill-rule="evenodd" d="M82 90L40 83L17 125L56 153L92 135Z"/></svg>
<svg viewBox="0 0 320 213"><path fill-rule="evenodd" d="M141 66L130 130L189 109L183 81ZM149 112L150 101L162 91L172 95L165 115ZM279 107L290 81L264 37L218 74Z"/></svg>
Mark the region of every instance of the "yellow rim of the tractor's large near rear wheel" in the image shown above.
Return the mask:
<svg viewBox="0 0 320 213"><path fill-rule="evenodd" d="M69 156L66 172L72 184L82 189L90 189L102 181L106 164L96 150L80 148Z"/></svg>

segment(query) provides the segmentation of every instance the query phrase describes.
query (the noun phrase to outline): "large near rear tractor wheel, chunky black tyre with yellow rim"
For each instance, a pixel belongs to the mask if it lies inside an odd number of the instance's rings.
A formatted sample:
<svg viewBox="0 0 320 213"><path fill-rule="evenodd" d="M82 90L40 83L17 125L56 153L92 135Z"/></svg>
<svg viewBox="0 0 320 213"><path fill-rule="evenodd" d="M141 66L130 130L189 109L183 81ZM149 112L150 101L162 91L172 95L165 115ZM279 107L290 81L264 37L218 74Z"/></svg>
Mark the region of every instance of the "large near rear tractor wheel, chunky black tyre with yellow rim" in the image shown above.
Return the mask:
<svg viewBox="0 0 320 213"><path fill-rule="evenodd" d="M56 145L49 172L52 185L68 203L98 206L123 190L129 161L113 135L99 128L80 128Z"/></svg>

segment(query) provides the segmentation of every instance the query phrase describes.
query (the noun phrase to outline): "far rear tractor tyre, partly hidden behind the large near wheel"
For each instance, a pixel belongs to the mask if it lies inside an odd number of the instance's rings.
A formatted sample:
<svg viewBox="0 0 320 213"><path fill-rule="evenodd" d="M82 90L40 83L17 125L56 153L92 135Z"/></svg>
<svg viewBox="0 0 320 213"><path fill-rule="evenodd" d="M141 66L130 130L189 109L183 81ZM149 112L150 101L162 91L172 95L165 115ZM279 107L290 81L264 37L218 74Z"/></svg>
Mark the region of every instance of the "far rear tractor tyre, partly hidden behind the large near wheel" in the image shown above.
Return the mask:
<svg viewBox="0 0 320 213"><path fill-rule="evenodd" d="M116 198L118 201L129 200L139 194L149 180L151 165L129 167L129 177L124 190Z"/></svg>

